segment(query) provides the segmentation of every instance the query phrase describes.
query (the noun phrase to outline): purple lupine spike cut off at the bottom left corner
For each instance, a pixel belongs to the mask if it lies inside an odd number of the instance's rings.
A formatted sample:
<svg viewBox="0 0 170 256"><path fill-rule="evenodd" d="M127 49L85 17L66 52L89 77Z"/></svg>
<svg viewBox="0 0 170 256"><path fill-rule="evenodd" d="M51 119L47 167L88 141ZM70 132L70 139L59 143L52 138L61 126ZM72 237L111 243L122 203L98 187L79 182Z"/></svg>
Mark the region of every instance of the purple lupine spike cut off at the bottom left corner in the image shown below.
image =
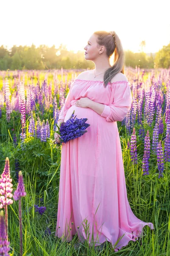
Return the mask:
<svg viewBox="0 0 170 256"><path fill-rule="evenodd" d="M0 255L9 256L10 242L7 239L3 210L0 211Z"/></svg>

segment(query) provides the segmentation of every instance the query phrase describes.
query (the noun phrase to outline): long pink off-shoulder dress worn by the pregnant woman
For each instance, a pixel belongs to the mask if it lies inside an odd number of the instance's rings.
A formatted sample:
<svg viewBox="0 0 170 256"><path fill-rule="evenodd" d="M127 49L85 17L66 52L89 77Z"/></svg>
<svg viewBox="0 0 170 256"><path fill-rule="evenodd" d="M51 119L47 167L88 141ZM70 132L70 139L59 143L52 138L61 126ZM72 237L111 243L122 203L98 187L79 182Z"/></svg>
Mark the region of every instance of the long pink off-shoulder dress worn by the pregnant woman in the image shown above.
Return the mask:
<svg viewBox="0 0 170 256"><path fill-rule="evenodd" d="M74 105L81 97L104 104L102 114ZM106 88L103 81L75 79L71 84L59 119L68 120L75 110L74 115L88 118L90 126L81 137L62 143L55 233L62 241L71 241L77 233L81 242L88 236L90 246L107 240L117 251L138 240L145 225L153 229L151 222L133 214L127 199L116 121L125 118L131 103L128 81L109 82Z"/></svg>

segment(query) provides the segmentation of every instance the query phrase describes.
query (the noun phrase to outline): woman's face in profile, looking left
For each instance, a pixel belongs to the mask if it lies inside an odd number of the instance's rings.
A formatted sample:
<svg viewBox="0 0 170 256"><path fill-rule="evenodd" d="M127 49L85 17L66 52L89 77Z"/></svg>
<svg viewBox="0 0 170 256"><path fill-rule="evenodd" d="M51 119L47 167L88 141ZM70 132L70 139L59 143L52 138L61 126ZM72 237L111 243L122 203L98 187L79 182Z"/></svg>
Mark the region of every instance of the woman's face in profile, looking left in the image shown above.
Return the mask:
<svg viewBox="0 0 170 256"><path fill-rule="evenodd" d="M94 60L99 56L99 48L97 48L97 35L91 35L88 44L85 46L85 59Z"/></svg>

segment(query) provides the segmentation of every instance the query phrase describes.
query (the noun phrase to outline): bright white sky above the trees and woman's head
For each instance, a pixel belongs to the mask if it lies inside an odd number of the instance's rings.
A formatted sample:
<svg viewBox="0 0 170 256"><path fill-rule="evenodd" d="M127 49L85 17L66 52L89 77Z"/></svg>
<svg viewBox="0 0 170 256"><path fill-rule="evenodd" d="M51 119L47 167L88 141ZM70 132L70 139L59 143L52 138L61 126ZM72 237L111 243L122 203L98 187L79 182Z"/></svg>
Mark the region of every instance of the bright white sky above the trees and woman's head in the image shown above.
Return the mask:
<svg viewBox="0 0 170 256"><path fill-rule="evenodd" d="M167 0L0 0L0 46L60 44L85 51L98 30L115 31L124 50L158 52L170 44Z"/></svg>

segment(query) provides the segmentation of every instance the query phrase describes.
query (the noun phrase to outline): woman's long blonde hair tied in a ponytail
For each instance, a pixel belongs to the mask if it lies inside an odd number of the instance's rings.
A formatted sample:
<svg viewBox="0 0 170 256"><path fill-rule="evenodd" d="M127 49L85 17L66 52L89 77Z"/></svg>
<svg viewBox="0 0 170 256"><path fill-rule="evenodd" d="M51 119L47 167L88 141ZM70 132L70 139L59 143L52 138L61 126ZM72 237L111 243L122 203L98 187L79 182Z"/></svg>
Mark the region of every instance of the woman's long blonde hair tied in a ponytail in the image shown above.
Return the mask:
<svg viewBox="0 0 170 256"><path fill-rule="evenodd" d="M114 64L112 67L108 68L104 73L104 87L108 85L108 82L119 72L124 74L124 51L122 47L122 43L118 37L118 35L114 32L106 32L106 31L96 31L94 35L97 35L97 44L99 46L105 46L106 55L108 58L114 52ZM115 35L115 37L113 37ZM115 44L116 41L116 44Z"/></svg>

